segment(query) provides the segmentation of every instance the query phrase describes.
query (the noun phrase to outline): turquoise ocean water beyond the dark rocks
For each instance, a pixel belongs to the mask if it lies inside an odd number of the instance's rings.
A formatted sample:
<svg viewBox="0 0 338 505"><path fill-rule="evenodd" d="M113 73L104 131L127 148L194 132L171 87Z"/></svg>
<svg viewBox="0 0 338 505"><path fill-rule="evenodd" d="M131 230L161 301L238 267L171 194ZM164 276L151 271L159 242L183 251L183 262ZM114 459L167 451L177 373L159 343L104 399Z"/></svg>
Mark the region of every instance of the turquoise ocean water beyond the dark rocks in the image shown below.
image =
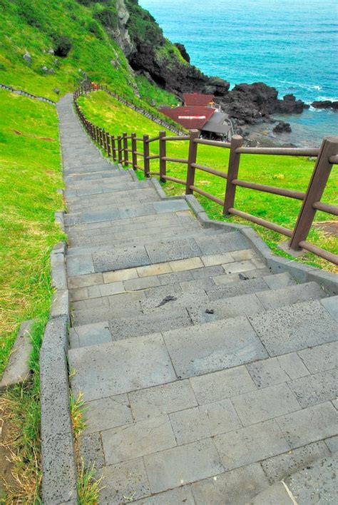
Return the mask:
<svg viewBox="0 0 338 505"><path fill-rule="evenodd" d="M337 0L139 0L191 63L235 83L263 81L280 98L338 100ZM338 135L338 113L287 116L290 141ZM304 138L303 138L304 137Z"/></svg>

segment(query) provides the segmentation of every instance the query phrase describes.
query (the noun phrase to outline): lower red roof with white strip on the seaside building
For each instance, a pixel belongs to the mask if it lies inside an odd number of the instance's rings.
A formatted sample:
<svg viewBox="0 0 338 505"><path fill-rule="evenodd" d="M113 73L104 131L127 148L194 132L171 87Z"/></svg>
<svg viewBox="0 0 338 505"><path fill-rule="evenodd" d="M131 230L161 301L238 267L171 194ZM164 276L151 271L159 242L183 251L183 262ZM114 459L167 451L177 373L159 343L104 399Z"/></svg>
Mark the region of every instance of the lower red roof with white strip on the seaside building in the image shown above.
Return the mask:
<svg viewBox="0 0 338 505"><path fill-rule="evenodd" d="M202 130L215 110L215 108L203 106L161 107L159 109L165 116L173 119L176 123L180 123L188 130Z"/></svg>

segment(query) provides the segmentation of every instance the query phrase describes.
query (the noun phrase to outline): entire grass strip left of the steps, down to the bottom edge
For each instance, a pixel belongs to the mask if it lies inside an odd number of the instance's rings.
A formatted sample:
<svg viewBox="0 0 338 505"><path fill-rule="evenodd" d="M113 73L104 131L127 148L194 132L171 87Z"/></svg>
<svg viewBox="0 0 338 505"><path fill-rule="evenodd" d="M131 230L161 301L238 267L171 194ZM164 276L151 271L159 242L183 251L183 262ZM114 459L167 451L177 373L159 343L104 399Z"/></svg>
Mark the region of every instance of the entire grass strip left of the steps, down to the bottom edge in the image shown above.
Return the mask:
<svg viewBox="0 0 338 505"><path fill-rule="evenodd" d="M39 351L53 293L49 254L64 238L54 218L63 208L58 118L54 106L2 90L0 110L0 374L21 322L35 320L31 378L0 397L12 474L0 501L39 504Z"/></svg>

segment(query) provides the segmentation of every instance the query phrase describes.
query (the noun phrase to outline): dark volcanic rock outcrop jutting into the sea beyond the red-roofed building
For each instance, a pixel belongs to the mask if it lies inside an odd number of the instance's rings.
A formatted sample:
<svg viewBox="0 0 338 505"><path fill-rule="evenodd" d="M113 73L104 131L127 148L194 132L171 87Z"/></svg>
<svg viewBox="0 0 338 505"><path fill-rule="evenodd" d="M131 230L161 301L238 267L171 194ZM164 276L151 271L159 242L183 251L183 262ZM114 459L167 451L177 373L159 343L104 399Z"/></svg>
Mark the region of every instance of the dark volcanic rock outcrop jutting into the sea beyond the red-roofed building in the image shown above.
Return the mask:
<svg viewBox="0 0 338 505"><path fill-rule="evenodd" d="M308 108L294 95L285 95L280 100L277 89L265 83L237 84L221 103L230 116L252 124L270 120L273 113L301 113Z"/></svg>

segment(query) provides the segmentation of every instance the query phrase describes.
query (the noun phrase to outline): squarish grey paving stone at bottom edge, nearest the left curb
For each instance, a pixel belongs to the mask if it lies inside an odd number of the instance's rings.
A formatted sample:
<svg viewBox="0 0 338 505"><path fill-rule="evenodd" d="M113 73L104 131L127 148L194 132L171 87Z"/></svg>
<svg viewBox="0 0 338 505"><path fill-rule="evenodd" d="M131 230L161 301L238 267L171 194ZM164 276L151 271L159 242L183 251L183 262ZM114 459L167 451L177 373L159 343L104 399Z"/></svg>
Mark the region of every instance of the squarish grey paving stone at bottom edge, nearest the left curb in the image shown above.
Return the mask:
<svg viewBox="0 0 338 505"><path fill-rule="evenodd" d="M121 505L151 494L142 458L105 466L102 476L100 504Z"/></svg>

